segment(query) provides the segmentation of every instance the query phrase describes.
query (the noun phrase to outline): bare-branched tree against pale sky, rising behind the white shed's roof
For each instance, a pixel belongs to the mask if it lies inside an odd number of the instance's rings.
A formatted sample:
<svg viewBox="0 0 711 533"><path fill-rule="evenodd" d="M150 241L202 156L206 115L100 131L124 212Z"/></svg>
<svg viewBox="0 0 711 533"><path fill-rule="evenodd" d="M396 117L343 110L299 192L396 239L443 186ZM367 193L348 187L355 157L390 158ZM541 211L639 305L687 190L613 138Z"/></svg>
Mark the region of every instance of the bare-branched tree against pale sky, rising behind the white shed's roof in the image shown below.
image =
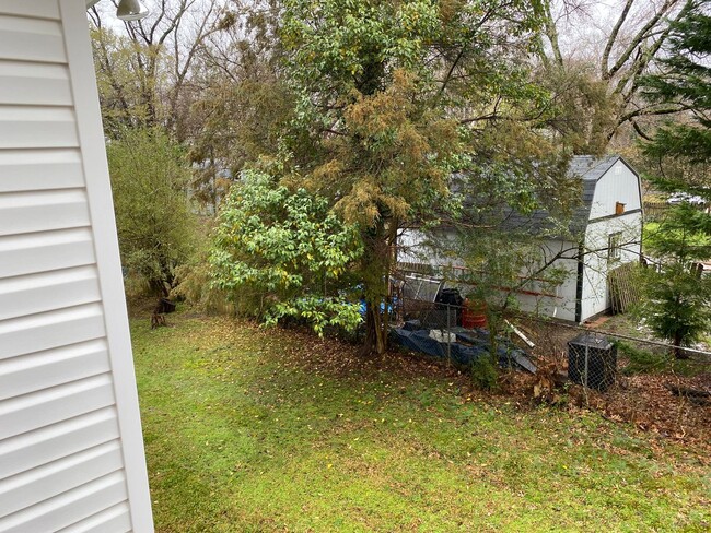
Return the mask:
<svg viewBox="0 0 711 533"><path fill-rule="evenodd" d="M544 0L540 75L568 111L551 126L573 151L603 153L621 129L642 132L650 117L684 110L678 102L651 102L640 95L640 80L663 56L671 23L683 4ZM609 22L604 29L601 20Z"/></svg>

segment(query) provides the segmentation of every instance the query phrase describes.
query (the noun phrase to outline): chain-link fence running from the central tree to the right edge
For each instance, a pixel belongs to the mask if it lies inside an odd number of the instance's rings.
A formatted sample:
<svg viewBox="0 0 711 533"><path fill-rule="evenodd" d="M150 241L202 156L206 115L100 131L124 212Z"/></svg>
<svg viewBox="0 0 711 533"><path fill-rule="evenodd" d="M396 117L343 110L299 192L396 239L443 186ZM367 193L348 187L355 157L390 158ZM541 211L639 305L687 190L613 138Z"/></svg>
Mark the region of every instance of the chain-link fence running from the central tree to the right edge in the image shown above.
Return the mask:
<svg viewBox="0 0 711 533"><path fill-rule="evenodd" d="M481 318L480 310L407 297L398 298L394 310L396 331L419 330L411 336L429 346L404 343L412 350L464 364L471 358L462 357L462 345L490 353L485 324L471 322L473 315ZM625 315L578 325L510 313L499 329L497 350L504 346L500 362L528 370L514 372L514 392L597 408L604 416L661 434L711 439L708 345L684 346L675 354L674 346Z"/></svg>

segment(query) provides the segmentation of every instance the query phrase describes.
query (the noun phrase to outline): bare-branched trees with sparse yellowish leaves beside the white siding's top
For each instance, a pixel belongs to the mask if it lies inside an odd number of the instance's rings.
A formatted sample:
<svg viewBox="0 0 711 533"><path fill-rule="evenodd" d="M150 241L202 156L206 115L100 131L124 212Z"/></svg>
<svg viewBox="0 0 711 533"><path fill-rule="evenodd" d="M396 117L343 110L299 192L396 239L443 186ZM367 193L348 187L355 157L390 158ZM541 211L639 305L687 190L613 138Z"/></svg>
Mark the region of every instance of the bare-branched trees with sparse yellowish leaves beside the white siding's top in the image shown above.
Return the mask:
<svg viewBox="0 0 711 533"><path fill-rule="evenodd" d="M114 0L113 9L117 7ZM107 25L114 16L100 3L89 11L104 125L161 125L186 137L189 106L199 87L193 73L200 50L232 21L221 0L161 0L148 17Z"/></svg>

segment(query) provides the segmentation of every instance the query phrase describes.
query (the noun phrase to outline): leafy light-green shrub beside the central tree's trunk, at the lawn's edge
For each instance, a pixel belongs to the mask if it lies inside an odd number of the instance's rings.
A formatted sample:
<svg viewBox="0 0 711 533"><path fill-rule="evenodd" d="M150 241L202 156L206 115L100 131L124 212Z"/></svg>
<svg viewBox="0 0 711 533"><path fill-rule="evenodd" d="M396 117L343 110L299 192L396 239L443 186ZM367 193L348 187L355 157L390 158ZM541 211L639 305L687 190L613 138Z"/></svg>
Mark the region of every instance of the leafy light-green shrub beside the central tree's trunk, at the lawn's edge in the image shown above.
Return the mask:
<svg viewBox="0 0 711 533"><path fill-rule="evenodd" d="M253 170L220 211L210 263L214 286L242 313L268 324L294 317L320 334L327 325L352 331L361 321L350 266L362 250L358 228L326 199Z"/></svg>

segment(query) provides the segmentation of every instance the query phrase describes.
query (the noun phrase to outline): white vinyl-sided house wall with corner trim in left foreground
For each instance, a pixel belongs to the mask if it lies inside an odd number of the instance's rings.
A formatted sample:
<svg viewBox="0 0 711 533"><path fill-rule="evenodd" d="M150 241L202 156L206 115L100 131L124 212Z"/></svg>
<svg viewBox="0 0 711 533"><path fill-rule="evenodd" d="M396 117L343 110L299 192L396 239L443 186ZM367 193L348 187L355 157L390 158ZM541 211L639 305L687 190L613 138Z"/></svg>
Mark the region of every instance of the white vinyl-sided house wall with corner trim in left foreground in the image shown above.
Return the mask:
<svg viewBox="0 0 711 533"><path fill-rule="evenodd" d="M0 0L0 532L152 531L83 0Z"/></svg>

